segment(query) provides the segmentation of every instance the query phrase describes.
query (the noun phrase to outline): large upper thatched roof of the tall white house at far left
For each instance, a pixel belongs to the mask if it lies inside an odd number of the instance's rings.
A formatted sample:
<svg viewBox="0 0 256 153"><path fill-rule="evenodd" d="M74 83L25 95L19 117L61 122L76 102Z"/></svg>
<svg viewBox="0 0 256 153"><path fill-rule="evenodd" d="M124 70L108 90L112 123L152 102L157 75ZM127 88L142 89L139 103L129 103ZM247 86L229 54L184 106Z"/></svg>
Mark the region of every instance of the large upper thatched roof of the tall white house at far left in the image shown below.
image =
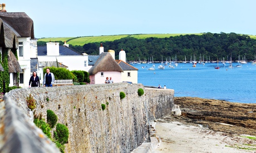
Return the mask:
<svg viewBox="0 0 256 153"><path fill-rule="evenodd" d="M17 37L34 36L34 25L31 18L24 12L0 12L0 46L18 48Z"/></svg>

